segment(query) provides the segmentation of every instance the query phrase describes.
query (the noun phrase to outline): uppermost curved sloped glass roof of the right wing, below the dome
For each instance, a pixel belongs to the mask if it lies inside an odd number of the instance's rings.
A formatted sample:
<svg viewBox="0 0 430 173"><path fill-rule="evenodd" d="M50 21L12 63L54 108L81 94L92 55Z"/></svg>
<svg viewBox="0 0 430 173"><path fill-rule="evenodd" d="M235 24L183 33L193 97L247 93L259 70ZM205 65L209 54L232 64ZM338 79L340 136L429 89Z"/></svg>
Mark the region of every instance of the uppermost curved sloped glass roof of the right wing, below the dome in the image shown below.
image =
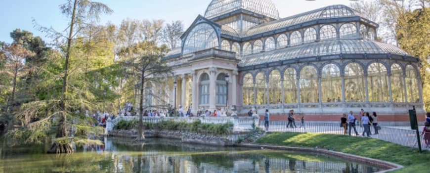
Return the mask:
<svg viewBox="0 0 430 173"><path fill-rule="evenodd" d="M315 9L305 13L286 17L280 20L264 23L252 27L246 33L246 36L253 36L267 31L285 28L299 23L312 21L316 19L339 18L346 16L360 16L360 14L352 8L345 5L331 5L323 8Z"/></svg>

